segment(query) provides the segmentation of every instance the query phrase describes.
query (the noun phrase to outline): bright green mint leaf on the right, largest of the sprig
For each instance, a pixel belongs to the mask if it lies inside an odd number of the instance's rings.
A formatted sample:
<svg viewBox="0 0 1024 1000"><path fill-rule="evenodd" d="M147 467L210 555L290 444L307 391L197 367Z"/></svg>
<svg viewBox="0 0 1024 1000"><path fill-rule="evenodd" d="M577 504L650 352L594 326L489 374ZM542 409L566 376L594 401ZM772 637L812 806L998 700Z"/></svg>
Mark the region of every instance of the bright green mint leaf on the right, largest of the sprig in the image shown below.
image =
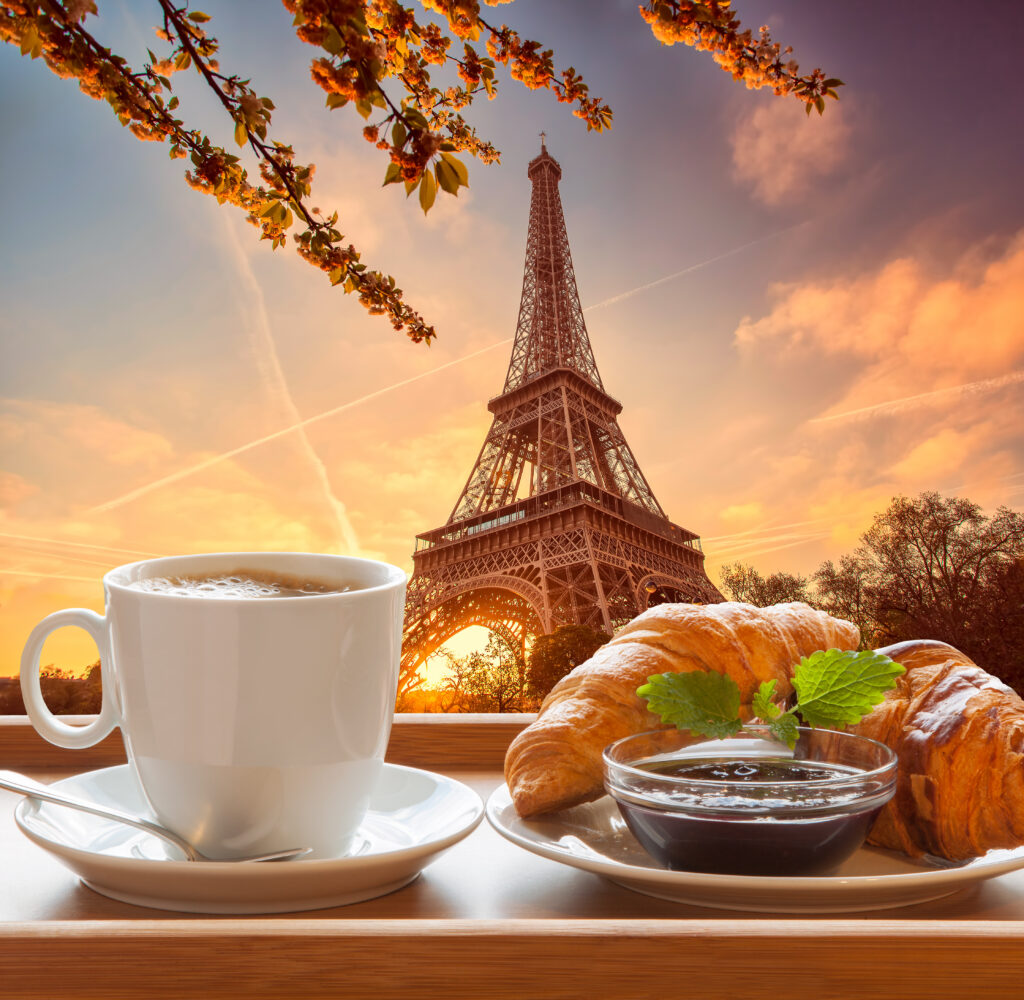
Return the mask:
<svg viewBox="0 0 1024 1000"><path fill-rule="evenodd" d="M903 667L867 649L818 650L805 656L793 675L797 710L809 726L825 729L859 723L896 683Z"/></svg>

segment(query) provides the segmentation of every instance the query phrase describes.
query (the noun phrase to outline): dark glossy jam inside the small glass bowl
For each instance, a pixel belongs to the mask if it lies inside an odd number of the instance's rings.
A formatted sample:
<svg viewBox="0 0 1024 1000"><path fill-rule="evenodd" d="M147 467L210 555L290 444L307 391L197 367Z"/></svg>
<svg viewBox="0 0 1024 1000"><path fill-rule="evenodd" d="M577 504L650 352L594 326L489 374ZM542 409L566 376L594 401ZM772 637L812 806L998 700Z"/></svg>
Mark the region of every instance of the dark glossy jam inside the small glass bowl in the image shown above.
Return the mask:
<svg viewBox="0 0 1024 1000"><path fill-rule="evenodd" d="M644 770L736 782L821 781L850 773L848 768L784 759L658 763ZM881 808L791 820L746 818L738 805L737 817L698 817L618 801L633 835L666 868L733 875L821 875L834 871L863 843ZM750 811L756 809L754 799Z"/></svg>

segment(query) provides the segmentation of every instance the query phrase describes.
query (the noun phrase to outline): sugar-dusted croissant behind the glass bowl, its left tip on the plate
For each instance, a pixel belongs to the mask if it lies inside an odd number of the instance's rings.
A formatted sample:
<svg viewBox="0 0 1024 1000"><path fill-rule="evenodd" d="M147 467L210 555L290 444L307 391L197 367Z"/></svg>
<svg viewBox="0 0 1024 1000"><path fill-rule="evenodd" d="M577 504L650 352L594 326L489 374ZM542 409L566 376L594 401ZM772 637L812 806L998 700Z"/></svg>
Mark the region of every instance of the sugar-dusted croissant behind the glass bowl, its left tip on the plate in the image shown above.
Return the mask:
<svg viewBox="0 0 1024 1000"><path fill-rule="evenodd" d="M717 670L749 704L763 681L793 691L790 670L818 649L856 649L857 626L806 604L659 604L634 618L551 689L535 722L510 744L505 778L516 812L536 816L599 798L601 751L633 733L664 729L636 689L652 673Z"/></svg>

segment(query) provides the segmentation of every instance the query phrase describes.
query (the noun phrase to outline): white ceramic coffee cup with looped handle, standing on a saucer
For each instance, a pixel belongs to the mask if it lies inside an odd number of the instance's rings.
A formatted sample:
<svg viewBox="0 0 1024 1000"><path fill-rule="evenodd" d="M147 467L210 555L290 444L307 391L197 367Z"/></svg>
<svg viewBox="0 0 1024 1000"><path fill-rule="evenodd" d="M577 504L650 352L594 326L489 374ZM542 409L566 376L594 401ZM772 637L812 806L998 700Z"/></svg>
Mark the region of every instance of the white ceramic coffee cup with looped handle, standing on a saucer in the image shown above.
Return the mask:
<svg viewBox="0 0 1024 1000"><path fill-rule="evenodd" d="M256 598L139 589L242 569L351 589ZM391 730L406 574L346 556L218 553L131 563L103 586L105 617L58 611L29 637L22 691L39 733L78 748L120 726L157 818L209 857L348 852ZM63 625L99 648L102 705L84 727L52 715L40 691L43 642Z"/></svg>

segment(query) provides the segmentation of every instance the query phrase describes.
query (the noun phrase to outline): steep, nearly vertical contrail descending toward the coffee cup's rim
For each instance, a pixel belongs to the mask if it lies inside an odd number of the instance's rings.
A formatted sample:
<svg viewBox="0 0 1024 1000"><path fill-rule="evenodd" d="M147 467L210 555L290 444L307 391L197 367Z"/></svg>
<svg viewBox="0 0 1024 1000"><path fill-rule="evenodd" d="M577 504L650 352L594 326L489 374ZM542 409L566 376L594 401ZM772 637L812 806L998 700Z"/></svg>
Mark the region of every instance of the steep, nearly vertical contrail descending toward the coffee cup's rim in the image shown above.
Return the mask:
<svg viewBox="0 0 1024 1000"><path fill-rule="evenodd" d="M300 423L299 409L295 405L291 390L288 388L288 380L281 368L281 361L278 358L278 348L273 342L273 334L270 331L266 302L263 298L263 289L260 287L259 281L256 280L256 275L253 273L249 258L242 248L238 233L234 231L234 226L226 216L223 218L224 230L227 233L228 243L231 245L239 274L245 285L248 286L249 303L254 307L252 315L255 321L246 323L245 331L256 360L257 371L260 374L267 394L275 403L278 410L286 420L299 424L297 442L299 453L305 460L313 474L313 478L324 493L324 498L327 501L327 505L334 515L338 532L346 550L350 553L357 553L359 551L358 536L352 527L351 521L348 519L345 505L335 495L334 490L331 488L331 480L327 474L327 468L323 460L316 453L316 449L306 436L305 429Z"/></svg>

